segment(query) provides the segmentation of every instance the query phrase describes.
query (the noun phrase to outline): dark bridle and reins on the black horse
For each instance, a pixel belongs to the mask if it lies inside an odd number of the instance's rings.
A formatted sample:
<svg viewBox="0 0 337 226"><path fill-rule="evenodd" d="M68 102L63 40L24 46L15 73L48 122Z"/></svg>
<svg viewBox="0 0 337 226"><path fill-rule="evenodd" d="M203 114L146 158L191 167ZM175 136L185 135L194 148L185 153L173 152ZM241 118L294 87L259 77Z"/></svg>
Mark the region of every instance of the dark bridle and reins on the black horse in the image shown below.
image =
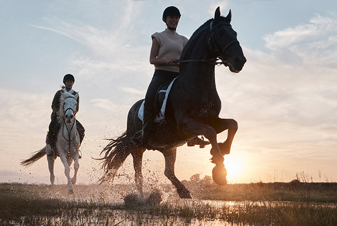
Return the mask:
<svg viewBox="0 0 337 226"><path fill-rule="evenodd" d="M179 60L179 61L175 61L175 63L191 63L191 62L196 62L196 63L208 63L208 64L213 64L213 65L224 65L224 66L228 66L229 63L227 61L223 60L223 56L222 56L222 52L224 52L230 45L234 44L234 43L239 43L238 40L233 40L230 43L228 43L226 46L222 46L220 43L218 43L222 49L222 51L219 51L219 47L217 47L216 42L217 42L217 38L214 32L214 29L220 25L228 25L231 26L232 25L230 23L227 22L221 22L216 24L215 26L213 26L213 21L210 23L209 25L209 29L211 32L211 35L208 39L208 45L210 47L211 52L217 52L218 57L216 59L208 59L208 60ZM220 61L218 61L220 60Z"/></svg>

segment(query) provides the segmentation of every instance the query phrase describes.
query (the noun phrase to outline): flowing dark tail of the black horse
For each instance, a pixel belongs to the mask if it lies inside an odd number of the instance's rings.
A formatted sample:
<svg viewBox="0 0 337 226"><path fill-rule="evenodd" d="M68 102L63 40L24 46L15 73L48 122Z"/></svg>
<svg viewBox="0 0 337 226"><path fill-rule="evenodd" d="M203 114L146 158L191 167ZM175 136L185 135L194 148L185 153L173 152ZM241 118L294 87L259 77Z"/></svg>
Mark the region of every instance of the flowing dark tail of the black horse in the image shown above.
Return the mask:
<svg viewBox="0 0 337 226"><path fill-rule="evenodd" d="M102 160L101 164L105 172L103 177L99 179L100 184L114 180L117 170L122 166L129 154L131 154L133 145L126 132L116 139L106 140L110 140L110 143L100 153L101 155L105 152L104 157L97 158L97 160Z"/></svg>

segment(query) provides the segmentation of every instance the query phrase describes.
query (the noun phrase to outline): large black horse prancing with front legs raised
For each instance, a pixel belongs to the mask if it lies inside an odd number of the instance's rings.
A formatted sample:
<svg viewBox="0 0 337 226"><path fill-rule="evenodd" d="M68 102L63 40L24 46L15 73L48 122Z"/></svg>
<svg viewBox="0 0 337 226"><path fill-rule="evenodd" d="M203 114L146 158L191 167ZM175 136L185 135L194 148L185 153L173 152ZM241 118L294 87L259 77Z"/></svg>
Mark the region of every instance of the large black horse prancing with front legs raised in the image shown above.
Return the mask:
<svg viewBox="0 0 337 226"><path fill-rule="evenodd" d="M227 17L220 16L220 9L199 27L185 48L180 59L180 76L174 82L168 95L164 123L153 123L153 136L147 145L134 145L130 138L142 129L138 118L143 100L137 101L128 114L127 131L102 150L105 152L102 168L105 171L101 182L114 179L129 154L133 157L135 181L142 194L142 158L146 149L160 151L165 158L164 175L177 188L181 198L191 198L190 192L175 176L177 147L184 145L198 135L206 137L211 145L211 161L215 163L213 180L219 185L227 183L227 171L223 155L229 154L238 124L233 119L220 119L221 101L215 87L214 67L217 64L228 66L231 72L238 73L246 63L237 33L232 29L231 11ZM220 62L219 62L220 60ZM228 138L217 143L216 134L228 130Z"/></svg>

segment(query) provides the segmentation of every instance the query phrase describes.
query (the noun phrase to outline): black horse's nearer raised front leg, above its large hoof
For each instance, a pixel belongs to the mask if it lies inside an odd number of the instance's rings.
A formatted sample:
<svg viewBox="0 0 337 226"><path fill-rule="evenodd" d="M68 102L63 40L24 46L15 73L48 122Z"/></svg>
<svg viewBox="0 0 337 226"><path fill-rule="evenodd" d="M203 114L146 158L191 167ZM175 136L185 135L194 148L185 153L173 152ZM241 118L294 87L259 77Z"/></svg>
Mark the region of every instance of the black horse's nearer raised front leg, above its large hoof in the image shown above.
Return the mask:
<svg viewBox="0 0 337 226"><path fill-rule="evenodd" d="M197 122L194 119L186 118L183 123L182 132L185 136L197 136L197 135L203 135L206 137L209 142L212 145L213 149L213 157L211 158L211 161L215 163L216 165L223 166L223 156L220 152L219 145L217 143L216 139L216 131L213 127Z"/></svg>

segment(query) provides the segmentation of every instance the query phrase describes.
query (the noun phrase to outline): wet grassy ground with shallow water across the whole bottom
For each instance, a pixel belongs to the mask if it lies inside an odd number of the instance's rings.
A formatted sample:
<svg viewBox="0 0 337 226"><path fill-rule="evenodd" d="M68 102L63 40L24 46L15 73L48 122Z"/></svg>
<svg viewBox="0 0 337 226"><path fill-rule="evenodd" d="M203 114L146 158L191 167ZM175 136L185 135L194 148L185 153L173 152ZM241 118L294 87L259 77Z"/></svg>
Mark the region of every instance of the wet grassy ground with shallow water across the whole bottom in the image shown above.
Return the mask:
<svg viewBox="0 0 337 226"><path fill-rule="evenodd" d="M112 187L120 193L77 185L76 195L59 185L52 196L49 185L3 183L0 225L337 225L336 183L184 183L194 199L177 198L171 185L145 200L124 185Z"/></svg>

